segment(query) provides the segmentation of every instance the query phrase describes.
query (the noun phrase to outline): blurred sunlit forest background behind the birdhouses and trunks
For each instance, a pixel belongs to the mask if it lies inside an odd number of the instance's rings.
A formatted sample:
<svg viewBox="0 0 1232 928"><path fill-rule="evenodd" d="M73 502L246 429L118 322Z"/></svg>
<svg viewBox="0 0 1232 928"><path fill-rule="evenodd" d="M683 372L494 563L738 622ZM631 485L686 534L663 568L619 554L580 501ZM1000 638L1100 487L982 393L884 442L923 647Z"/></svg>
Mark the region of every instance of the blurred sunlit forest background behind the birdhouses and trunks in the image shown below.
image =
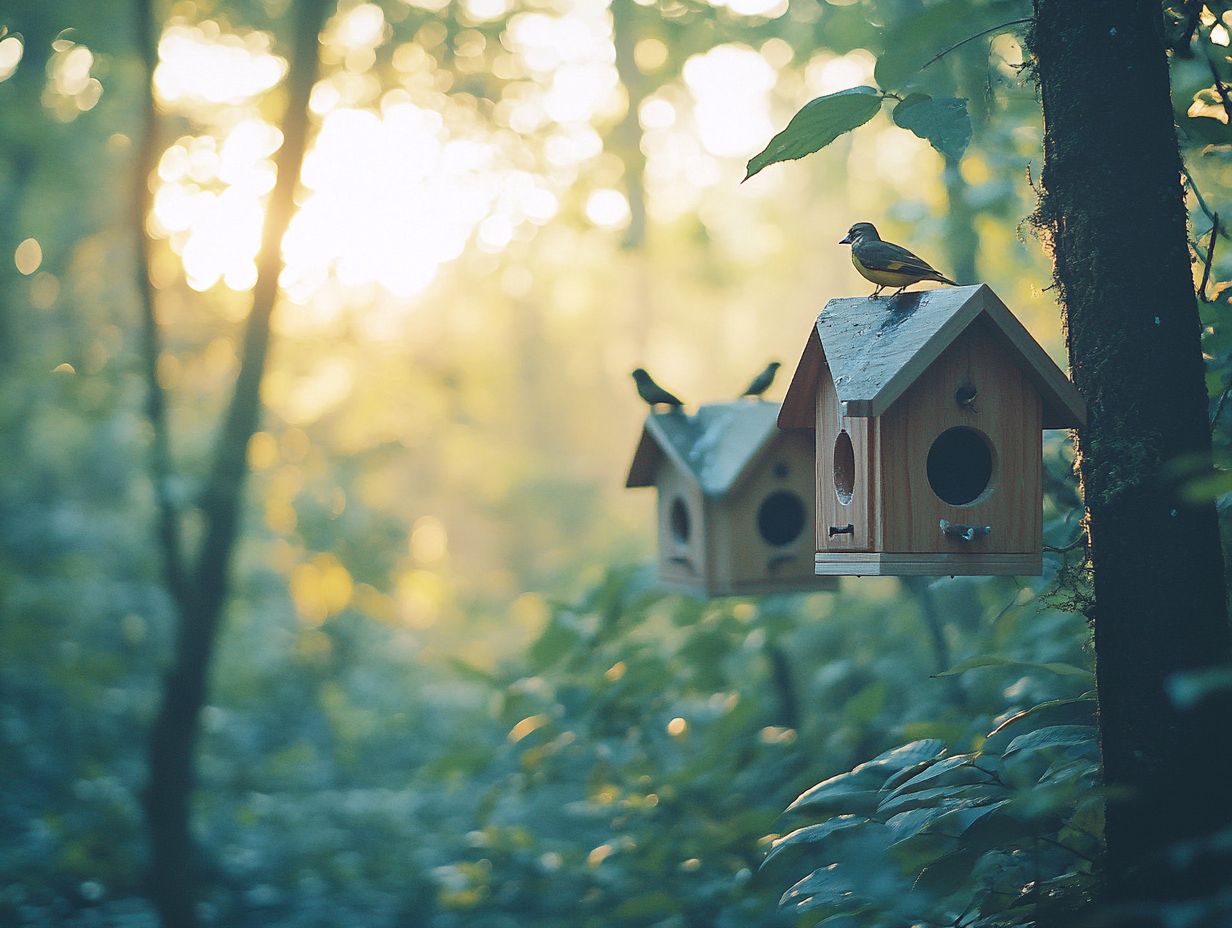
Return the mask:
<svg viewBox="0 0 1232 928"><path fill-rule="evenodd" d="M1184 27L1193 5L1177 6ZM287 143L299 4L154 4L152 81L137 10L0 9L0 921L14 924L158 922L140 796L176 643L158 505L195 551ZM790 365L827 298L865 292L833 244L856 219L989 282L1061 356L1047 256L1020 234L1042 158L1021 25L928 68L944 84L931 92L967 99L961 153L886 107L739 184L811 97L1029 14L329 5L200 716L186 917L791 924L775 903L801 863L788 848L756 870L797 794L907 741L971 751L1032 706L1082 710L1079 550L1021 584L865 579L699 604L648 589L652 502L620 489L644 412L628 371L644 364L697 402L732 397L771 357ZM1206 213L1232 187L1210 70L1228 76L1223 15L1201 6L1201 54L1172 63L1204 195L1190 196L1199 274ZM129 206L149 89L163 486ZM1215 249L1210 265L1226 457L1232 263ZM1066 547L1080 511L1063 436L1047 457L1048 540ZM1220 476L1191 492L1228 489ZM930 675L978 656L1003 662ZM1077 857L1046 865L1080 898L1090 847L1056 822L1096 844L1099 823L1074 818L1088 783L1071 773L1050 794L1061 818L995 849L1068 844ZM1023 780L1027 799L1037 783Z"/></svg>

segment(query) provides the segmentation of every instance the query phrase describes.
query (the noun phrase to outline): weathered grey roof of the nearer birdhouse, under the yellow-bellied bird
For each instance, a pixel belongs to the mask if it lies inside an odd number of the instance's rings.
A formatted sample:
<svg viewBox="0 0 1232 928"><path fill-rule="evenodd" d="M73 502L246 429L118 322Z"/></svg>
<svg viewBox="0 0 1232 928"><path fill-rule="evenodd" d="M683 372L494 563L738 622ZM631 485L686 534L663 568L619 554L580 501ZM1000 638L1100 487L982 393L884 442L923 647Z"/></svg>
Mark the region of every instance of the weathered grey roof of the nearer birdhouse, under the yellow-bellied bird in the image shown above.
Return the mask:
<svg viewBox="0 0 1232 928"><path fill-rule="evenodd" d="M1087 421L1069 378L986 283L901 293L891 299L832 299L817 317L779 415L785 429L816 424L816 396L829 365L844 415L882 415L978 318L987 318L1021 361L1044 401L1044 428Z"/></svg>

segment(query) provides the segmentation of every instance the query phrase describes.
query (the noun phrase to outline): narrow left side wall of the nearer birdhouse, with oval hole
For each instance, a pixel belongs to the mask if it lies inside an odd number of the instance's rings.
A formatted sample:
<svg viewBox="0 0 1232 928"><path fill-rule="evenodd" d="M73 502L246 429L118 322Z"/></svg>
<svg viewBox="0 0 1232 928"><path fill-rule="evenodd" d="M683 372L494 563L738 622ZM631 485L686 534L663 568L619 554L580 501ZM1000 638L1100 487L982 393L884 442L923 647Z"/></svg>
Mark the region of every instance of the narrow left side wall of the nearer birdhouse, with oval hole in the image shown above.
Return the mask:
<svg viewBox="0 0 1232 928"><path fill-rule="evenodd" d="M881 551L877 420L841 414L828 365L817 388L817 551Z"/></svg>

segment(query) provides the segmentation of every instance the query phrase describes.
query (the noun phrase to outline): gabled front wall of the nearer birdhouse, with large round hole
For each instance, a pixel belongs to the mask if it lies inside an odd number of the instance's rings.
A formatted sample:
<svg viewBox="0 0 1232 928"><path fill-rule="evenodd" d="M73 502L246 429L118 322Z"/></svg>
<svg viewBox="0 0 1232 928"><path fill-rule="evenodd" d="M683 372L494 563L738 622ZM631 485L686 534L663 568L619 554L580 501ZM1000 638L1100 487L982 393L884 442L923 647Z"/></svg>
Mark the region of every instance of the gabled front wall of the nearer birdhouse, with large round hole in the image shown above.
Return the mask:
<svg viewBox="0 0 1232 928"><path fill-rule="evenodd" d="M1039 391L975 320L877 420L877 550L1039 553L1041 423ZM991 531L965 541L942 535L941 519Z"/></svg>

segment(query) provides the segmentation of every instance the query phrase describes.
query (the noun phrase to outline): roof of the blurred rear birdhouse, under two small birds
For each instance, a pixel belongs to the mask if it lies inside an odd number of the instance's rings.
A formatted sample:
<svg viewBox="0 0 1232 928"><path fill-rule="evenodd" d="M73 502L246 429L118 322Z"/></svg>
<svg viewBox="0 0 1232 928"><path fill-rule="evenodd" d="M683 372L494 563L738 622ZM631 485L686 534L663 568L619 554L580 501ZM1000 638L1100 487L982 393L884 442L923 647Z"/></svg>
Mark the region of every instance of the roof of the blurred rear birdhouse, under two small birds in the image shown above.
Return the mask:
<svg viewBox="0 0 1232 928"><path fill-rule="evenodd" d="M777 435L779 404L765 401L708 403L689 415L650 413L628 470L626 487L653 487L659 465L671 461L707 497L731 492Z"/></svg>

